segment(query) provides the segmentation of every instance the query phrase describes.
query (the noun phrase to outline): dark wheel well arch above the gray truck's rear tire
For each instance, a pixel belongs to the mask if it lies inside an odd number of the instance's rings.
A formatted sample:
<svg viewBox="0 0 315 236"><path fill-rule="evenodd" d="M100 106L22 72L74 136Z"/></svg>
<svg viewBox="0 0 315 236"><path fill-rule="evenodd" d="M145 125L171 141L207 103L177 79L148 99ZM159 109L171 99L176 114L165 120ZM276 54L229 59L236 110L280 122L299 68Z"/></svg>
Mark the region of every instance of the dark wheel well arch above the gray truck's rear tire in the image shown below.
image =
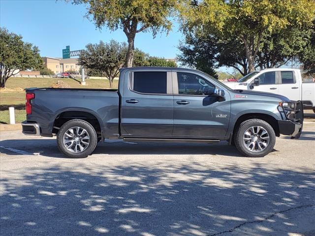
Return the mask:
<svg viewBox="0 0 315 236"><path fill-rule="evenodd" d="M88 112L79 112L79 111L69 111L61 113L54 122L53 134L57 134L59 128L67 121L71 119L82 119L89 122L96 131L97 136L101 136L101 129L98 119Z"/></svg>

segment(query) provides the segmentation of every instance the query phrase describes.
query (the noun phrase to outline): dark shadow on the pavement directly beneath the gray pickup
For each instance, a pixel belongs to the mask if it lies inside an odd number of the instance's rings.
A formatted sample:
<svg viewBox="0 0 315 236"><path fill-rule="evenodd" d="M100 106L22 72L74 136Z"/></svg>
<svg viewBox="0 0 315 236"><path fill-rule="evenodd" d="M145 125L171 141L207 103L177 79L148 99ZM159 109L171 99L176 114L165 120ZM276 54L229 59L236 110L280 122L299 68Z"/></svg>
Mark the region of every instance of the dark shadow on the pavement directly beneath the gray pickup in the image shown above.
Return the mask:
<svg viewBox="0 0 315 236"><path fill-rule="evenodd" d="M0 142L1 152L8 155L23 155L5 148L15 148L47 157L66 158L57 148L55 139L4 140ZM100 142L93 154L105 155L220 155L241 157L241 154L227 142L221 144L181 144L181 143L130 143ZM115 158L115 157L114 157Z"/></svg>

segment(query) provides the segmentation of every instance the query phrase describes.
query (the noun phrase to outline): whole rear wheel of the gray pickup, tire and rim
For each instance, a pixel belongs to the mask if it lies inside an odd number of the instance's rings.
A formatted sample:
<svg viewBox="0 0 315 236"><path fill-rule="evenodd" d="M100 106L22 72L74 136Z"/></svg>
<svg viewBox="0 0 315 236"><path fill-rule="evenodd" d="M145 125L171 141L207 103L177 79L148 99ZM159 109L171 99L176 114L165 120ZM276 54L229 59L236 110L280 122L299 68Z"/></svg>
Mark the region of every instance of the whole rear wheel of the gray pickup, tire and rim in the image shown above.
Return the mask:
<svg viewBox="0 0 315 236"><path fill-rule="evenodd" d="M94 127L87 121L72 119L65 122L57 134L60 151L71 158L84 158L90 155L97 144Z"/></svg>

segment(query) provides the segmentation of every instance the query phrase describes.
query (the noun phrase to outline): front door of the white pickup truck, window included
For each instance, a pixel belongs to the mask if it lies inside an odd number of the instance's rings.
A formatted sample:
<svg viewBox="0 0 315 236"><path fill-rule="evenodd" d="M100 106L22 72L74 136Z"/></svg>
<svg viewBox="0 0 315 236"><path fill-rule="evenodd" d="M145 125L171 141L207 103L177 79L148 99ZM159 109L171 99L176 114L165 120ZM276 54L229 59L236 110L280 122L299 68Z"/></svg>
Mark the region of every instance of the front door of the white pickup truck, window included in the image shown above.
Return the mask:
<svg viewBox="0 0 315 236"><path fill-rule="evenodd" d="M278 94L279 85L277 83L278 82L277 71L267 71L261 73L256 78L259 78L259 86L253 86L252 89L249 90L272 92Z"/></svg>

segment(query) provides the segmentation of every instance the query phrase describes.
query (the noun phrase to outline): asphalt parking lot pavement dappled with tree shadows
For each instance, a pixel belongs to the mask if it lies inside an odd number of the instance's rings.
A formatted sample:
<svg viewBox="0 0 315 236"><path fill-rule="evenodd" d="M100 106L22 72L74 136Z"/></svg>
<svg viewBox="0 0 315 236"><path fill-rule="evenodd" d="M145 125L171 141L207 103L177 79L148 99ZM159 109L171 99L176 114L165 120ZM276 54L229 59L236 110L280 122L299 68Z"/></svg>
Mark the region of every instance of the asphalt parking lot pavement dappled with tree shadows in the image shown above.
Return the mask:
<svg viewBox="0 0 315 236"><path fill-rule="evenodd" d="M101 143L65 158L54 138L0 136L0 235L314 236L315 114L262 158L203 144Z"/></svg>

